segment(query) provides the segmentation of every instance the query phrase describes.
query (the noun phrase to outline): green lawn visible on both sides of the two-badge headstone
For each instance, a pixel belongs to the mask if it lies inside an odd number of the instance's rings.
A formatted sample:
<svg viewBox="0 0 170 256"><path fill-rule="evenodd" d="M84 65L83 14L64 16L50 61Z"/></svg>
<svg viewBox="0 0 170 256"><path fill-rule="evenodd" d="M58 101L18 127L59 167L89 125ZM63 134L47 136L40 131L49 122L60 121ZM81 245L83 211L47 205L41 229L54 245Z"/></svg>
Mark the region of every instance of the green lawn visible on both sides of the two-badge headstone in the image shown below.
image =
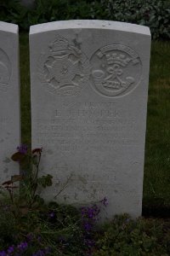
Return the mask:
<svg viewBox="0 0 170 256"><path fill-rule="evenodd" d="M170 42L152 42L143 206L170 207ZM22 143L31 144L28 35L20 35Z"/></svg>

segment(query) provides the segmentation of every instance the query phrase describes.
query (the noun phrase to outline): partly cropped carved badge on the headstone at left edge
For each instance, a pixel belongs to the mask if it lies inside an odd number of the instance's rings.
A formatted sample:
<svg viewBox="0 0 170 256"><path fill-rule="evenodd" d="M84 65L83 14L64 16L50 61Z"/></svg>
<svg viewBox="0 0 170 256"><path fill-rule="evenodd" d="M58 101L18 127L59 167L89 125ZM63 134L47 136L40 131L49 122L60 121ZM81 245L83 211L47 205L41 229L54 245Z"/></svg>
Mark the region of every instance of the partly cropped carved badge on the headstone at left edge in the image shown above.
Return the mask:
<svg viewBox="0 0 170 256"><path fill-rule="evenodd" d="M0 49L0 90L6 91L11 77L11 63L8 55Z"/></svg>

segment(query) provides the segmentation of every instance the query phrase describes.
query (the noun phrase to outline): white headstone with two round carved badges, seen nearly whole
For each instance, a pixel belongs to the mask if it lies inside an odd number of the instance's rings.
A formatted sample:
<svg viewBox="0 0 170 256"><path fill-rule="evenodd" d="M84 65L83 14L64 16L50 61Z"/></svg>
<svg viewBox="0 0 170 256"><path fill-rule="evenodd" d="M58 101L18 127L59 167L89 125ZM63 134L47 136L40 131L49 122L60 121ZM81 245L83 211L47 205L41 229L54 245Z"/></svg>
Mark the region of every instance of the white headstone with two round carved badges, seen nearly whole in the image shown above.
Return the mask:
<svg viewBox="0 0 170 256"><path fill-rule="evenodd" d="M47 200L107 217L142 209L150 29L102 20L30 30L32 148L42 147ZM57 196L56 196L57 195Z"/></svg>

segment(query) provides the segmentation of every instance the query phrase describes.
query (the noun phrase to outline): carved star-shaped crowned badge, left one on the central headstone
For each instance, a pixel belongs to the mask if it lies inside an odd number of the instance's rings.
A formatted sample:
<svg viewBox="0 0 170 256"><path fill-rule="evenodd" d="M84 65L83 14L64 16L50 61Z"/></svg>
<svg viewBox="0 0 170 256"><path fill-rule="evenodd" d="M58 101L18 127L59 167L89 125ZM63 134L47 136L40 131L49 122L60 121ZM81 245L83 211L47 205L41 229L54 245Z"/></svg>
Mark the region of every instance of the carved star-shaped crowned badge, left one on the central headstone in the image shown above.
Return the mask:
<svg viewBox="0 0 170 256"><path fill-rule="evenodd" d="M65 38L57 36L38 62L42 83L56 96L76 96L88 84L88 58Z"/></svg>

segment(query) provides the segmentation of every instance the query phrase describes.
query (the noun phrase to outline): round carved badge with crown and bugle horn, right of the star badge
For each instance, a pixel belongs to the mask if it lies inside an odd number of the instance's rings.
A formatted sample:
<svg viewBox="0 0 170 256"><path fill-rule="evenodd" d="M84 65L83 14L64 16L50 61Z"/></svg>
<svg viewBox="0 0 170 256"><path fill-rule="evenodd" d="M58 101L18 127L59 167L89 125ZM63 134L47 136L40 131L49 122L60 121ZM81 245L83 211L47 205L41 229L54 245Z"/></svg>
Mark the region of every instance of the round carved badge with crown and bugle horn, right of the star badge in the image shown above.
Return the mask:
<svg viewBox="0 0 170 256"><path fill-rule="evenodd" d="M142 73L137 53L122 44L97 50L91 58L91 83L103 96L123 96L133 90Z"/></svg>

